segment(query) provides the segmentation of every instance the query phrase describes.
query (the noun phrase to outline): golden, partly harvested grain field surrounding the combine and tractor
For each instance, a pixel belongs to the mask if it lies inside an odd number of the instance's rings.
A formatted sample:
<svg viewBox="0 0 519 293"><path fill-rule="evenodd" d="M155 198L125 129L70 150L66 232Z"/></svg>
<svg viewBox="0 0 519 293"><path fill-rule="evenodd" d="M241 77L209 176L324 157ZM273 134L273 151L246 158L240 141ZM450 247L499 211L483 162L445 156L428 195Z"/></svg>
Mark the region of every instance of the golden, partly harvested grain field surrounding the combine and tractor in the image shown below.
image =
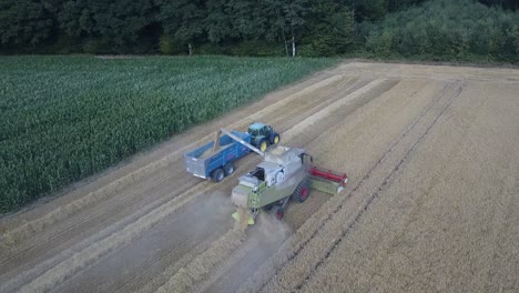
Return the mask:
<svg viewBox="0 0 519 293"><path fill-rule="evenodd" d="M284 222L236 230L182 154L272 123L347 171ZM0 220L1 292L518 292L519 70L345 63Z"/></svg>

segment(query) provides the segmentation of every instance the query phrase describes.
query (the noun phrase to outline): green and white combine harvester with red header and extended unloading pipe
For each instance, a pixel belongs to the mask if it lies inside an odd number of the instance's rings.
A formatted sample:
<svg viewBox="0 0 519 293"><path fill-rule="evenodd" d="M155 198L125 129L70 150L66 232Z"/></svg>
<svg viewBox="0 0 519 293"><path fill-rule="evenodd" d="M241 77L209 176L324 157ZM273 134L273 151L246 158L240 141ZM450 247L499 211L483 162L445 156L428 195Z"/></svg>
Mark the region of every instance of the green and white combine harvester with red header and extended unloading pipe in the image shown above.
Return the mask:
<svg viewBox="0 0 519 293"><path fill-rule="evenodd" d="M236 221L246 216L247 223L254 224L261 210L269 210L281 220L291 199L304 202L312 189L335 195L348 182L346 173L315 166L303 149L273 145L263 152L233 133L221 131L263 156L263 162L241 176L233 189L232 201L238 209L233 214Z"/></svg>

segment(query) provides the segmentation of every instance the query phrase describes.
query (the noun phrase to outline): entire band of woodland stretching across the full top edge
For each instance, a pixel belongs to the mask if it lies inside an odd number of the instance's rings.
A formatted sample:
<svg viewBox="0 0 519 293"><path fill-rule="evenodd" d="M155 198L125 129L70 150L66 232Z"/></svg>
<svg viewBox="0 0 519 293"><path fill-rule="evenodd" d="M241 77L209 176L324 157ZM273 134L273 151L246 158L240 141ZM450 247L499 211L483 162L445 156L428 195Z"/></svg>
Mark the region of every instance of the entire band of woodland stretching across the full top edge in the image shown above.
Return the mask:
<svg viewBox="0 0 519 293"><path fill-rule="evenodd" d="M0 0L0 53L515 54L519 1L479 2Z"/></svg>

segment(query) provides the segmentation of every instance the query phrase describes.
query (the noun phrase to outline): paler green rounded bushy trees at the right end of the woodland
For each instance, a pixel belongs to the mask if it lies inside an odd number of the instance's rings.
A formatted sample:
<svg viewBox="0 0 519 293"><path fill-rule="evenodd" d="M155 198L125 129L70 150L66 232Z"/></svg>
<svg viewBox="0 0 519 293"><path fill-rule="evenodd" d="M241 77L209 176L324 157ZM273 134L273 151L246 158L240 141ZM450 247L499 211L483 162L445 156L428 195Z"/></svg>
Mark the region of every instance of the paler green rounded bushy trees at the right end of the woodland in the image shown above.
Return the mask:
<svg viewBox="0 0 519 293"><path fill-rule="evenodd" d="M428 1L378 23L363 23L359 36L375 57L519 62L519 11L501 4Z"/></svg>

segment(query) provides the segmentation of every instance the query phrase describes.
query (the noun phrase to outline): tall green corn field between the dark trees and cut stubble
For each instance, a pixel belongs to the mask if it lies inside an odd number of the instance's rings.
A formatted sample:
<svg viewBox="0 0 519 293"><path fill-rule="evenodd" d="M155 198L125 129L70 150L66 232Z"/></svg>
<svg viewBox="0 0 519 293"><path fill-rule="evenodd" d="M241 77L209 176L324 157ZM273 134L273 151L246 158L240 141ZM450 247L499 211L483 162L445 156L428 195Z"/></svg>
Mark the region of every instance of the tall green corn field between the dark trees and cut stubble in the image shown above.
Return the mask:
<svg viewBox="0 0 519 293"><path fill-rule="evenodd" d="M0 212L335 62L0 58Z"/></svg>

